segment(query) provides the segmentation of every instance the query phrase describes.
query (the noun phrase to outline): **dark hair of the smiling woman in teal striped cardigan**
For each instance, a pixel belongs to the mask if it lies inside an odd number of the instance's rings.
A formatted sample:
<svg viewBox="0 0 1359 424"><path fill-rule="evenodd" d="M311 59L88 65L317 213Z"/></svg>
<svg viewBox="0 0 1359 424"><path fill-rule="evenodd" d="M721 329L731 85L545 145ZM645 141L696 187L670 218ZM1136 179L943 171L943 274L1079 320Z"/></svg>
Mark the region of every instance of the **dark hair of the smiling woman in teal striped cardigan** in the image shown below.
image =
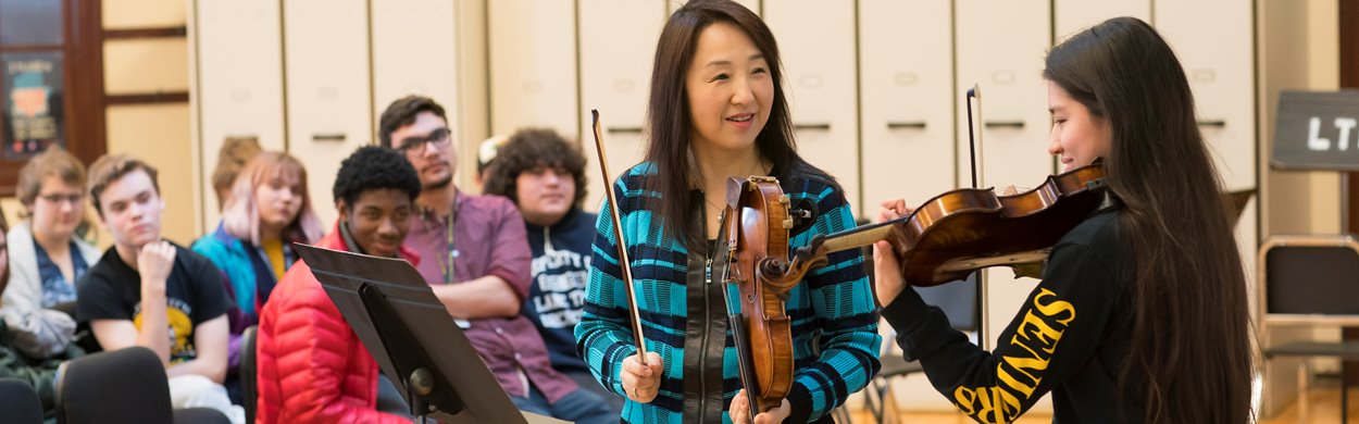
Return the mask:
<svg viewBox="0 0 1359 424"><path fill-rule="evenodd" d="M794 141L792 118L788 114L788 101L783 90L783 63L779 60L779 45L773 33L754 12L730 0L693 0L670 15L666 27L656 42L655 67L651 69L651 99L647 106L647 162L656 166L654 178L647 178L648 189L659 192L652 198L660 209L667 228L675 228L675 238L693 242L692 215L694 204L689 192L693 182L700 181L699 169L689 152L693 139L693 118L689 114L689 98L685 91L685 76L693 64L699 34L718 22L727 22L741 29L754 42L769 63L773 77L773 105L769 121L756 136L756 149L773 164L775 177L806 175L833 179L824 171L807 164L798 156Z"/></svg>

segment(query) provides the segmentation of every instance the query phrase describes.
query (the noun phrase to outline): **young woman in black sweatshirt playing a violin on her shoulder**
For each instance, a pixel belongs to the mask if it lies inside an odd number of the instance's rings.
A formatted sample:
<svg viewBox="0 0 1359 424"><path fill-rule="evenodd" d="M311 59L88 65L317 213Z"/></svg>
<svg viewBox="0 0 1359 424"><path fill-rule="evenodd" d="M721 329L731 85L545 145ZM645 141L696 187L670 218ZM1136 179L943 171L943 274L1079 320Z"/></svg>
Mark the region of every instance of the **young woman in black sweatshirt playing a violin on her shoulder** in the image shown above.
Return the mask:
<svg viewBox="0 0 1359 424"><path fill-rule="evenodd" d="M1048 149L1068 170L1102 158L1105 208L1053 246L992 352L906 289L878 242L878 296L904 355L981 423L1010 423L1048 391L1057 423L1250 421L1245 276L1180 61L1151 26L1116 18L1053 48L1044 77ZM909 212L883 207L882 219Z"/></svg>

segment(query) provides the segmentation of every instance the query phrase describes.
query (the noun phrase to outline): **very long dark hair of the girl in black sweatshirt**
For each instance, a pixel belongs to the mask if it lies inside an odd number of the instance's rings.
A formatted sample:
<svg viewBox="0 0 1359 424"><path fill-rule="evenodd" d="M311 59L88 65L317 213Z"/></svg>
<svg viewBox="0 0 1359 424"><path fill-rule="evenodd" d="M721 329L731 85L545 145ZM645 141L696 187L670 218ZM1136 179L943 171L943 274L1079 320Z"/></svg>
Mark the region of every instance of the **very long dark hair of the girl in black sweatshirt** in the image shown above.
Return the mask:
<svg viewBox="0 0 1359 424"><path fill-rule="evenodd" d="M1121 393L1146 423L1248 423L1246 279L1174 52L1147 23L1114 18L1053 48L1042 73L1113 133L1105 166L1136 281Z"/></svg>

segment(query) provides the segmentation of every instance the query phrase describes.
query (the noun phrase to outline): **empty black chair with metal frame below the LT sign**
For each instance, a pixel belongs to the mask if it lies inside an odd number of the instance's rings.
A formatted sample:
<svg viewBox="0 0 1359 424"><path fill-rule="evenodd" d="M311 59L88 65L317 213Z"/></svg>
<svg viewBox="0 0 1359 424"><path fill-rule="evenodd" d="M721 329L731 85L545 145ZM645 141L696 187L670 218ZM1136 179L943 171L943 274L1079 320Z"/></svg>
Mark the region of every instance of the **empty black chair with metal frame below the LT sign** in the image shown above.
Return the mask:
<svg viewBox="0 0 1359 424"><path fill-rule="evenodd" d="M1260 246L1260 340L1264 359L1299 357L1298 398L1306 414L1305 394L1311 375L1310 357L1359 360L1356 341L1291 340L1272 344L1271 328L1359 326L1359 242L1352 236L1272 236ZM1268 372L1267 372L1268 375ZM1340 421L1347 423L1348 385L1340 383ZM1302 421L1307 421L1303 417Z"/></svg>

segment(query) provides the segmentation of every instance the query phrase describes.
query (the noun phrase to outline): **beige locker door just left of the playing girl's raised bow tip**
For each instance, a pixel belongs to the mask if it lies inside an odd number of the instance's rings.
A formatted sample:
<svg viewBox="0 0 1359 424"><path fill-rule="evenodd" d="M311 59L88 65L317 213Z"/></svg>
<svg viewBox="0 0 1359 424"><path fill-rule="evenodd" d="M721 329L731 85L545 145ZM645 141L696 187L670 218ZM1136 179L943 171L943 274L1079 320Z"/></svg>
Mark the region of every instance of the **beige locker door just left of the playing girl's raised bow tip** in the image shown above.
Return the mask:
<svg viewBox="0 0 1359 424"><path fill-rule="evenodd" d="M957 188L951 15L947 1L859 1L860 216Z"/></svg>

